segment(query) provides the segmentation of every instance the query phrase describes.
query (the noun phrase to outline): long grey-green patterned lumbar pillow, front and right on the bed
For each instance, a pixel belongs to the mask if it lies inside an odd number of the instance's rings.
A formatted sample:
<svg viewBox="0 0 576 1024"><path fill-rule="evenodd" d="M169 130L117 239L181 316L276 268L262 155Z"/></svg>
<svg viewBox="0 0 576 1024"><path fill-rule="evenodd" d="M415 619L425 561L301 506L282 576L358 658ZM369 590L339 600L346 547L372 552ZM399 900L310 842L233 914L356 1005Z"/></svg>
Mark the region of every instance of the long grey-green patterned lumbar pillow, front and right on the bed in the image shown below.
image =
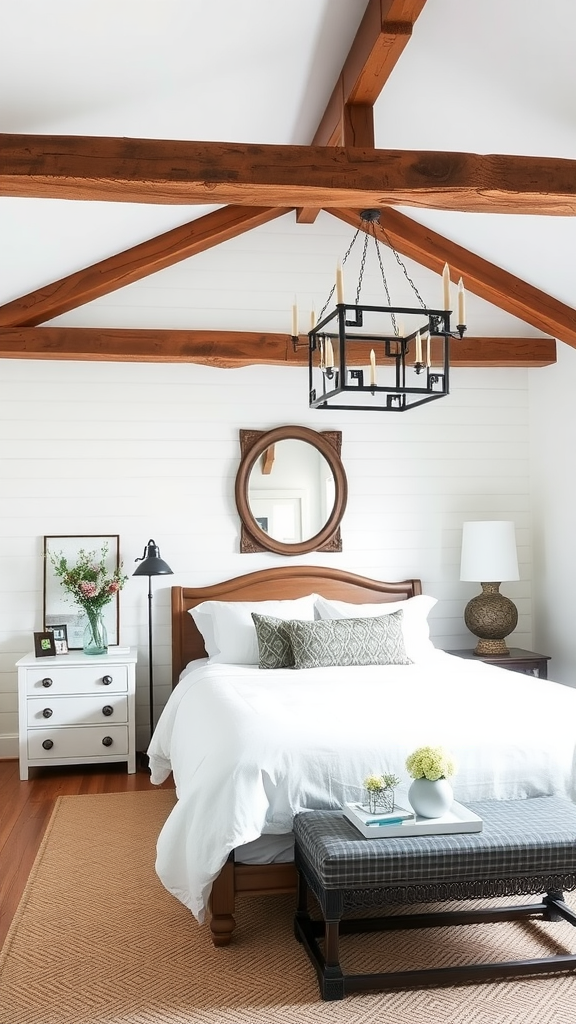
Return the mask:
<svg viewBox="0 0 576 1024"><path fill-rule="evenodd" d="M373 618L327 618L286 624L296 669L323 666L411 665L402 633L402 611Z"/></svg>

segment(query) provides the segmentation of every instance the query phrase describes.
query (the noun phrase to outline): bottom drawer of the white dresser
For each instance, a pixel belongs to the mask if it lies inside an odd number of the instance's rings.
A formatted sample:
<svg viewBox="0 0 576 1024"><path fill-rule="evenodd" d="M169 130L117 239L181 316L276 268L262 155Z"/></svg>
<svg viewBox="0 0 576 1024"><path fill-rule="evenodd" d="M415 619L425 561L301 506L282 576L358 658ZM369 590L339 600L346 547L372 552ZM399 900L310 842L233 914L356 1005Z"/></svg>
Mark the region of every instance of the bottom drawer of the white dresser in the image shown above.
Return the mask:
<svg viewBox="0 0 576 1024"><path fill-rule="evenodd" d="M106 740L106 741L105 741ZM108 742L112 740L112 742ZM43 746L47 743L47 746ZM51 745L50 745L51 744ZM77 728L32 729L28 733L31 761L59 761L61 758L109 757L128 753L126 725L92 725Z"/></svg>

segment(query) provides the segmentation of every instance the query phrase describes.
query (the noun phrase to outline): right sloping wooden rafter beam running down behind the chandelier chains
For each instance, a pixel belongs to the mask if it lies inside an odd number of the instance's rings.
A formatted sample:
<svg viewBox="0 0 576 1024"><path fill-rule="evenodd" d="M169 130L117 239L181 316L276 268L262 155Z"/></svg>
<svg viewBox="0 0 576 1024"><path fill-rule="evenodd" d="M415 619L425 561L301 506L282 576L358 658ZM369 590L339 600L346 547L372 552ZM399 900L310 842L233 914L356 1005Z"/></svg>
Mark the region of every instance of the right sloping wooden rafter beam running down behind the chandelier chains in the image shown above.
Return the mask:
<svg viewBox="0 0 576 1024"><path fill-rule="evenodd" d="M330 210L339 220L362 227L357 210ZM576 348L576 310L520 278L489 263L462 246L399 213L383 210L374 224L378 241L392 243L398 252L442 274L448 263L452 281L462 278L465 288L512 316ZM440 294L440 290L439 290Z"/></svg>

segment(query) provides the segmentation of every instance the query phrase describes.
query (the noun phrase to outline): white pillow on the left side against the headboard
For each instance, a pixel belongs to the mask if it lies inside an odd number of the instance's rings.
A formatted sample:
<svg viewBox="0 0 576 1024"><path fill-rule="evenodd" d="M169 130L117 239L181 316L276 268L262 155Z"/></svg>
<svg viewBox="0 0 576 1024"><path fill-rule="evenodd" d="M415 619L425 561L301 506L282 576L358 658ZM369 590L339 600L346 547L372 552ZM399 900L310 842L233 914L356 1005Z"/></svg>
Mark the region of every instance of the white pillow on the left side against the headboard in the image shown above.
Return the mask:
<svg viewBox="0 0 576 1024"><path fill-rule="evenodd" d="M190 609L211 663L257 665L258 639L252 612L276 618L314 620L318 594L293 601L204 601Z"/></svg>

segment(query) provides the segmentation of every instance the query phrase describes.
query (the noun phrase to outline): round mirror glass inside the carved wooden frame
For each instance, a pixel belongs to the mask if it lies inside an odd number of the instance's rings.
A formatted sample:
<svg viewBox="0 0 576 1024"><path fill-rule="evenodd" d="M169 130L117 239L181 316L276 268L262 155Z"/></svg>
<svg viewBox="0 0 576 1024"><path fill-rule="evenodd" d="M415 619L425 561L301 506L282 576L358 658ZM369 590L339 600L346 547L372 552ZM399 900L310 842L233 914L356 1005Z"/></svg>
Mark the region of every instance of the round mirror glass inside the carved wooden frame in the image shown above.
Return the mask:
<svg viewBox="0 0 576 1024"><path fill-rule="evenodd" d="M286 438L261 455L248 479L248 505L259 529L284 544L316 537L335 502L334 474L307 441Z"/></svg>

